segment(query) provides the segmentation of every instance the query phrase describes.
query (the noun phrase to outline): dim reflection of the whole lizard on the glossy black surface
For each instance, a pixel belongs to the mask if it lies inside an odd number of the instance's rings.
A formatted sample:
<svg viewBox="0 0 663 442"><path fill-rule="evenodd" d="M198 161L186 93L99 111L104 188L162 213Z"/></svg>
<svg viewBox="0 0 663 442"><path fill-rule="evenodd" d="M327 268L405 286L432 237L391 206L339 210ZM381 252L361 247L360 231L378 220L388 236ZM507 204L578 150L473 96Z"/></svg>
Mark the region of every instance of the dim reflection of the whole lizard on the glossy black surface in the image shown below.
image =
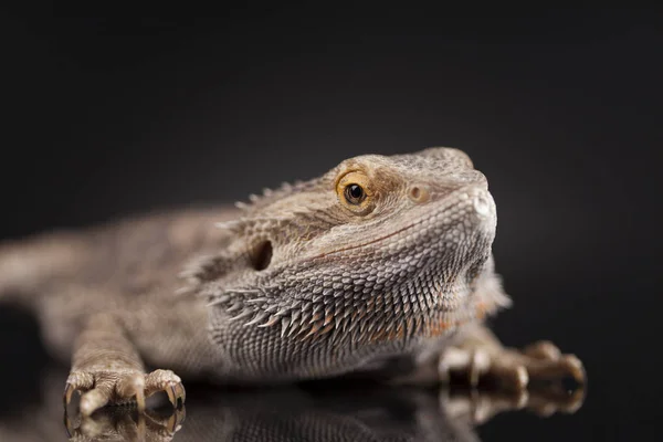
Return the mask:
<svg viewBox="0 0 663 442"><path fill-rule="evenodd" d="M39 379L21 379L41 385L41 393L38 400L23 398L12 403L10 415L7 408L0 412L0 441L53 441L56 434L64 434L65 376L57 366L42 369ZM65 418L70 441L477 442L476 427L494 414L524 412L518 394L488 389L450 392L441 388L438 394L428 388L382 388L376 382L351 381L241 391L202 383L187 387L191 394L186 407L171 413L159 409L137 414L133 407L106 407L92 417L71 413ZM573 412L578 399L564 390L537 388L529 392L525 408L528 414ZM493 439L494 429L488 430ZM512 439L526 436L519 428L503 429ZM497 439L499 435L497 430Z"/></svg>

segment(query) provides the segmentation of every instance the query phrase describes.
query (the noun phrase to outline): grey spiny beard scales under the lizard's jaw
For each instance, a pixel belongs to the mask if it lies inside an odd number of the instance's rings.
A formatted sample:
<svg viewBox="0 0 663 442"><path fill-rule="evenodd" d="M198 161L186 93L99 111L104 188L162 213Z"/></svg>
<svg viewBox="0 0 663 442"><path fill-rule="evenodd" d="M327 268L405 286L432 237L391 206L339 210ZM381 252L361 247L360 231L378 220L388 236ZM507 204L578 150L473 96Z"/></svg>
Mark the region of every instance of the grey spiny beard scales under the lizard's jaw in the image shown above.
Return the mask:
<svg viewBox="0 0 663 442"><path fill-rule="evenodd" d="M347 260L351 266L303 263L250 288L217 286L208 296L229 322L280 327L282 338L341 345L440 336L475 317L470 285L481 265L450 269L449 259L425 252L422 246L399 259L355 255Z"/></svg>

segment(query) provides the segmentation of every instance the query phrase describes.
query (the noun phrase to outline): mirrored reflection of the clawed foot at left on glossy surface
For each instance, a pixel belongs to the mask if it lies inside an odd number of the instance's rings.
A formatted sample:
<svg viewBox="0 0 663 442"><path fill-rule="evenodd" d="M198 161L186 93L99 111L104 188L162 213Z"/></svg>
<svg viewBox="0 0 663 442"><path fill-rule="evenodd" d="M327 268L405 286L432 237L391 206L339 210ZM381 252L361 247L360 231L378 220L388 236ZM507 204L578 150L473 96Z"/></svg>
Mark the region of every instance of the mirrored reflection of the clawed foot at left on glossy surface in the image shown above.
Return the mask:
<svg viewBox="0 0 663 442"><path fill-rule="evenodd" d="M123 440L169 442L185 421L186 411L181 407L170 415L161 415L147 410L136 413L131 408L107 408L92 415L81 415L72 421L66 413L64 424L71 441Z"/></svg>

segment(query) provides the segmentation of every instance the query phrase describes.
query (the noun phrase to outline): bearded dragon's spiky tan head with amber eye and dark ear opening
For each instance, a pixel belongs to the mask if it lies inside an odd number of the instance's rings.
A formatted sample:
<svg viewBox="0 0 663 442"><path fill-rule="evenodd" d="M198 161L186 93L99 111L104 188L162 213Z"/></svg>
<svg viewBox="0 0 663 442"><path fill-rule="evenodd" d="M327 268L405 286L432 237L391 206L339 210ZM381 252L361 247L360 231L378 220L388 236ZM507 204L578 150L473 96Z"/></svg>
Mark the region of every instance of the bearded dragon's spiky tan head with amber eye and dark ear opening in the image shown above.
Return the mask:
<svg viewBox="0 0 663 442"><path fill-rule="evenodd" d="M361 348L440 336L475 316L496 212L461 150L350 158L241 207L222 225L229 246L196 274L213 333L239 324Z"/></svg>

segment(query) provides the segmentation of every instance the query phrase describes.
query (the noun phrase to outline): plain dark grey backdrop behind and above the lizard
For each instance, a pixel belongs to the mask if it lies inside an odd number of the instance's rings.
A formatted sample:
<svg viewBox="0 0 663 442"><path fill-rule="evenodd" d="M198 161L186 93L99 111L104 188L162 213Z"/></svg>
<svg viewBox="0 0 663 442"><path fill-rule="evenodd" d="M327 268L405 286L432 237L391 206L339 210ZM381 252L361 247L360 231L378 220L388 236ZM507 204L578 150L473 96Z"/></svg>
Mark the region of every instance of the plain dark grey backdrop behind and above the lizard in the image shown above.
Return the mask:
<svg viewBox="0 0 663 442"><path fill-rule="evenodd" d="M366 152L460 147L497 201L515 307L496 330L550 338L589 372L576 415L511 414L482 434L627 439L657 419L657 11L14 12L0 19L0 239L245 199ZM33 335L0 314L0 376L43 362Z"/></svg>

